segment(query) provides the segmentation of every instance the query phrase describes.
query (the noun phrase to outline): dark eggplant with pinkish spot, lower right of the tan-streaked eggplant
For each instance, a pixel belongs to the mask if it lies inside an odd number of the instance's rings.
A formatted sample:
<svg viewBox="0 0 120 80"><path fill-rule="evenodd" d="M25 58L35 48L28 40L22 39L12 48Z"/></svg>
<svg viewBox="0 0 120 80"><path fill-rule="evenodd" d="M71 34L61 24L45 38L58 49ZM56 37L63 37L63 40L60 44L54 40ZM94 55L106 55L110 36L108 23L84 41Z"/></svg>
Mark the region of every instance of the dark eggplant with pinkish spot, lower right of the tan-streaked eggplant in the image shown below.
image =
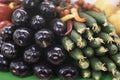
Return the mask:
<svg viewBox="0 0 120 80"><path fill-rule="evenodd" d="M47 59L52 64L60 64L65 59L64 51L61 47L55 46L47 52Z"/></svg>

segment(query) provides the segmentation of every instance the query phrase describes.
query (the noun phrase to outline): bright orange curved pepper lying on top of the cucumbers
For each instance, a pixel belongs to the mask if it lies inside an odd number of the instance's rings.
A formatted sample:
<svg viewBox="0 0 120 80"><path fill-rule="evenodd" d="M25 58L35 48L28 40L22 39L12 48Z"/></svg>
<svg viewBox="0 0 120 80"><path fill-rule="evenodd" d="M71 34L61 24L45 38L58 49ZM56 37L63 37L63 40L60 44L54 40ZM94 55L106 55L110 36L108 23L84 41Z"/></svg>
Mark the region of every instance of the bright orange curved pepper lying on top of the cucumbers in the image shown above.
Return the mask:
<svg viewBox="0 0 120 80"><path fill-rule="evenodd" d="M78 14L78 10L76 8L71 8L71 14L74 15L74 19L78 22L85 22L86 19L85 18L81 18Z"/></svg>

